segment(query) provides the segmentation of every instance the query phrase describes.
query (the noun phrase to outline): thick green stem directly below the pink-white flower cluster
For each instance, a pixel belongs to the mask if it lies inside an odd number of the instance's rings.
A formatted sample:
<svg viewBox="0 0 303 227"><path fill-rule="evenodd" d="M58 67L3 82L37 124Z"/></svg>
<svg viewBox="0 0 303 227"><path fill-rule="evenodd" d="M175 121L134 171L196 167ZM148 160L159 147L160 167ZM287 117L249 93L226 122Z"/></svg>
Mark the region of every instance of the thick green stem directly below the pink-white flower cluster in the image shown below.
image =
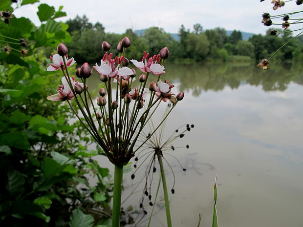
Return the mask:
<svg viewBox="0 0 303 227"><path fill-rule="evenodd" d="M123 165L122 166L115 165L111 227L120 227L122 179L123 179Z"/></svg>

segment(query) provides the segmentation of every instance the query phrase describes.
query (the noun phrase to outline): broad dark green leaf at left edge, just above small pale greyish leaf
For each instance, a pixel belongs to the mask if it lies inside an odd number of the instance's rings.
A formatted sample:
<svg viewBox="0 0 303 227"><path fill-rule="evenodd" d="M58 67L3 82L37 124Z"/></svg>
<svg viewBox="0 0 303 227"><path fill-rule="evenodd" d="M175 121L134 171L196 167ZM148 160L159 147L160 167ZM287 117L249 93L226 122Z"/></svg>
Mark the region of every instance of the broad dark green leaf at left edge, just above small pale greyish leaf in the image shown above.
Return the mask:
<svg viewBox="0 0 303 227"><path fill-rule="evenodd" d="M28 150L30 146L25 133L21 131L0 134L0 145L7 145L23 150Z"/></svg>

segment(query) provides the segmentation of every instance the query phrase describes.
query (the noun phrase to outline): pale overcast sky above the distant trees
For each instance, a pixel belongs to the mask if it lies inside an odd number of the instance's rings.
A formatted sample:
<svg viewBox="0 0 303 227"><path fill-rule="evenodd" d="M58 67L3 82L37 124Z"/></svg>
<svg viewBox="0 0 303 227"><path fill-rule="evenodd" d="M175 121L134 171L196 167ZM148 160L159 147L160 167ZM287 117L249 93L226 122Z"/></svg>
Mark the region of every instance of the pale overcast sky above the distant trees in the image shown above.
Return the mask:
<svg viewBox="0 0 303 227"><path fill-rule="evenodd" d="M295 0L276 11L272 9L270 0L40 0L40 3L47 3L56 9L63 5L67 17L61 18L61 21L85 14L90 22L99 21L106 32L114 33L151 26L177 33L181 24L192 30L193 24L200 23L203 29L222 27L265 34L268 27L260 22L263 12L277 15L303 10L303 5L297 6ZM36 12L40 3L22 6L15 14L17 17L28 17L38 25Z"/></svg>

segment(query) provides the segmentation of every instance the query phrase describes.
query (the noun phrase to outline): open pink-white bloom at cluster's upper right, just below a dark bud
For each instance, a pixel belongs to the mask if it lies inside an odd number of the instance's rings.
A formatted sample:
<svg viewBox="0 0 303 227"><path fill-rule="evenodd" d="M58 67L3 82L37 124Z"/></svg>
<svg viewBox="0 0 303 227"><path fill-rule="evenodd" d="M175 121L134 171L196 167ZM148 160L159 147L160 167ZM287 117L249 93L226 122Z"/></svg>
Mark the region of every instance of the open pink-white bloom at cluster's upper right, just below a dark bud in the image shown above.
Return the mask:
<svg viewBox="0 0 303 227"><path fill-rule="evenodd" d="M154 75L160 75L165 73L164 66L159 64L160 55L154 55L148 61L146 61L149 57L149 54L146 54L144 51L144 56L142 62L138 62L137 60L130 60L138 69L140 69L144 73L152 73Z"/></svg>

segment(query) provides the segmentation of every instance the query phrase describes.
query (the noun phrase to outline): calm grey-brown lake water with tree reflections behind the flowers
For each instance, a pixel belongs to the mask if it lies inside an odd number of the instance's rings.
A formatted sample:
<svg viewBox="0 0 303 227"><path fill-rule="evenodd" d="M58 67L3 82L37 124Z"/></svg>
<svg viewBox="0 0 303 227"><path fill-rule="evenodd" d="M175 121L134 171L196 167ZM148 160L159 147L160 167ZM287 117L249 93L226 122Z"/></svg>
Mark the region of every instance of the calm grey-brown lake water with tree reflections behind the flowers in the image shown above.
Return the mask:
<svg viewBox="0 0 303 227"><path fill-rule="evenodd" d="M196 226L198 213L201 226L211 226L216 175L221 227L303 226L303 71L301 65L271 66L267 71L245 64L166 66L163 78L185 97L170 115L164 139L181 124L195 124L173 143L190 148L169 151L187 171L166 157L176 177L175 194L170 194L174 227ZM97 88L94 78L89 83ZM113 170L106 159L98 161ZM146 166L138 171L142 176ZM140 210L144 180L133 190L142 181L140 173L133 181L131 171L125 174L122 200L134 192L124 207ZM170 189L168 166L167 181ZM157 182L155 175L153 196ZM155 211L162 209L152 219L154 227L166 226L162 190L158 198ZM151 211L147 198L145 207Z"/></svg>

